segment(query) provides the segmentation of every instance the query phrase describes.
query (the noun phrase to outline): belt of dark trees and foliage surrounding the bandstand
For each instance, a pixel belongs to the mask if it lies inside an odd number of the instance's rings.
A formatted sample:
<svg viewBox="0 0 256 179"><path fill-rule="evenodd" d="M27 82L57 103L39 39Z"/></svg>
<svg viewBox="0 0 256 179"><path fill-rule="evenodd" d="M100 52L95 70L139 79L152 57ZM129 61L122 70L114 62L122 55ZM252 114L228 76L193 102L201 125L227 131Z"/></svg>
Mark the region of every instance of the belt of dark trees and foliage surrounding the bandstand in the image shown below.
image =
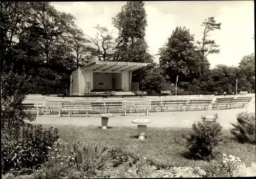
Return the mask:
<svg viewBox="0 0 256 179"><path fill-rule="evenodd" d="M159 66L145 41L143 2L127 2L112 20L119 32L117 39L113 30L100 25L95 27L96 36L84 34L72 14L57 11L49 2L1 2L1 74L26 76L30 94L67 94L71 72L92 60L146 62L150 63L146 68L133 72L132 81L149 94L172 87L156 89L159 82L154 80L152 85L144 85L155 71L164 83L175 84L178 75L180 94L233 93L236 80L238 93L254 93L254 54L245 55L238 67L220 64L209 69L207 57L221 49L209 39L215 30L221 30L215 17L202 22L201 41L195 42L189 29L176 27L159 50Z"/></svg>

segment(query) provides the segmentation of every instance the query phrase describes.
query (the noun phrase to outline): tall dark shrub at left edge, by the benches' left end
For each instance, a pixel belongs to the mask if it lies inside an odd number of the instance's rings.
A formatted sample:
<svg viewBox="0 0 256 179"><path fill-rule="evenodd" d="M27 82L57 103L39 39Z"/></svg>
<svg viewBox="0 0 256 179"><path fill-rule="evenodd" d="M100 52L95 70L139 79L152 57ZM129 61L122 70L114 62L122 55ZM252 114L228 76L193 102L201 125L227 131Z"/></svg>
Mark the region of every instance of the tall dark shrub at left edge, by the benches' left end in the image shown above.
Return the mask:
<svg viewBox="0 0 256 179"><path fill-rule="evenodd" d="M26 76L14 73L1 74L1 127L6 130L18 130L25 120L33 121L35 116L24 111L22 102L25 99L28 80Z"/></svg>

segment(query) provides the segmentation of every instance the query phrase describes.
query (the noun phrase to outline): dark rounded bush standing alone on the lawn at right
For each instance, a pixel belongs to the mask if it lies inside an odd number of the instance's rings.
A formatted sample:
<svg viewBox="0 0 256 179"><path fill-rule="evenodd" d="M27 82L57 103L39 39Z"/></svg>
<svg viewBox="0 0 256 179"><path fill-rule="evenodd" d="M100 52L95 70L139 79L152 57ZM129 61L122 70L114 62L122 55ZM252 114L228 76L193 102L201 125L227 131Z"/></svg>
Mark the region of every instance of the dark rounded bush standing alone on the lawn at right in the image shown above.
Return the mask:
<svg viewBox="0 0 256 179"><path fill-rule="evenodd" d="M214 158L214 148L222 141L221 125L217 122L218 115L207 121L202 117L202 122L194 123L186 144L191 156L196 159L210 160Z"/></svg>

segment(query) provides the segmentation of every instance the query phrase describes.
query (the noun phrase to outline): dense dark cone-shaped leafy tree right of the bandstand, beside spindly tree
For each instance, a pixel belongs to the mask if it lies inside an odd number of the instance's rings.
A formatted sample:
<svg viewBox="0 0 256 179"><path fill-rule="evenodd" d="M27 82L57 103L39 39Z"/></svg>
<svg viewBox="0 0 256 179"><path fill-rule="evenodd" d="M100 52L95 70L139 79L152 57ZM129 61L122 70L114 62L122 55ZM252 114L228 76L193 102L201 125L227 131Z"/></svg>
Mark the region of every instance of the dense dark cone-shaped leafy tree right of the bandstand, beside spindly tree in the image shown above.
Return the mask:
<svg viewBox="0 0 256 179"><path fill-rule="evenodd" d="M198 76L198 66L195 55L194 35L185 27L176 27L168 38L165 46L159 50L160 68L163 76L170 77L172 82L192 81Z"/></svg>

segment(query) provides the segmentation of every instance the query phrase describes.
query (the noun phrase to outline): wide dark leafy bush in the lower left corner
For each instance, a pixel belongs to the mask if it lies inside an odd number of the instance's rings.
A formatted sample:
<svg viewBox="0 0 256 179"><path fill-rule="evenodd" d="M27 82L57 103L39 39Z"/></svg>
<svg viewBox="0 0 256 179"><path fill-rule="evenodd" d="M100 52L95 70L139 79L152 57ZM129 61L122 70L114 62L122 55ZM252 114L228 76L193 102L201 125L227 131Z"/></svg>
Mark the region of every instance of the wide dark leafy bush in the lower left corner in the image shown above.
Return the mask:
<svg viewBox="0 0 256 179"><path fill-rule="evenodd" d="M25 123L19 130L2 134L3 172L39 167L47 160L48 147L58 139L56 128Z"/></svg>

